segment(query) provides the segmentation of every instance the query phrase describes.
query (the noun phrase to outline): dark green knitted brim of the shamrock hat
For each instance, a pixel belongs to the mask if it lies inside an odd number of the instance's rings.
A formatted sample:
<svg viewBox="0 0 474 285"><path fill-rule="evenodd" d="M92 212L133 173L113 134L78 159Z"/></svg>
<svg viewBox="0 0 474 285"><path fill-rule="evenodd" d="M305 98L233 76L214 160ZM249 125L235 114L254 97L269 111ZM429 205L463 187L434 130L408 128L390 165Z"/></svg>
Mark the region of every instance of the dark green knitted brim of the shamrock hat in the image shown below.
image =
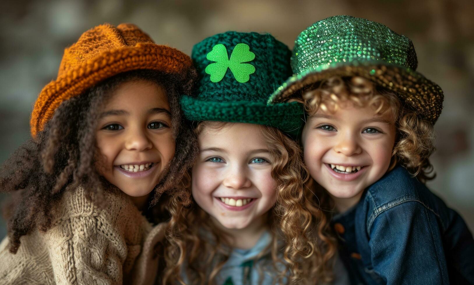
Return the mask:
<svg viewBox="0 0 474 285"><path fill-rule="evenodd" d="M250 101L204 101L183 95L181 107L190 121L219 121L250 123L275 127L290 135L298 133L304 114L303 105L298 102L276 103Z"/></svg>

